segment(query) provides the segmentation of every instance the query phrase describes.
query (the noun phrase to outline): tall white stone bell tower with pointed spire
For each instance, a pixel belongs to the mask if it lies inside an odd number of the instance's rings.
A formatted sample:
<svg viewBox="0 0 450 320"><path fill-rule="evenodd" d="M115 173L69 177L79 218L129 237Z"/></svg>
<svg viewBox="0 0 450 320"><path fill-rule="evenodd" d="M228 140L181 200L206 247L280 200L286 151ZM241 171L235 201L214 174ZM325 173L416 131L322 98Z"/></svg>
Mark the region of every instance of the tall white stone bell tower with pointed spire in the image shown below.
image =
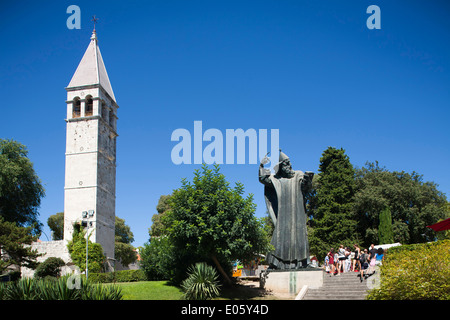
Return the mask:
<svg viewBox="0 0 450 320"><path fill-rule="evenodd" d="M117 109L94 31L67 91L64 240L88 221L89 240L114 258Z"/></svg>

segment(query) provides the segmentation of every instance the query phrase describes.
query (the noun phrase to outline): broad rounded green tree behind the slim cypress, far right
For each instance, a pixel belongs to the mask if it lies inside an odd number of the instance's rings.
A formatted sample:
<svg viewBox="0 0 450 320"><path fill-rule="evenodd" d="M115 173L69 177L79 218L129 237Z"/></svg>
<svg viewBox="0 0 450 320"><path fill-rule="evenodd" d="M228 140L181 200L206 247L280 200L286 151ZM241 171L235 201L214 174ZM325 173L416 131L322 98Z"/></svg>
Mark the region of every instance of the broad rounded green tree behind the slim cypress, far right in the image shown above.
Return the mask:
<svg viewBox="0 0 450 320"><path fill-rule="evenodd" d="M393 240L403 244L433 241L435 233L426 226L448 217L445 194L416 172L390 172L368 162L356 171L355 182L354 210L364 246L378 242L379 213L386 207L392 215Z"/></svg>

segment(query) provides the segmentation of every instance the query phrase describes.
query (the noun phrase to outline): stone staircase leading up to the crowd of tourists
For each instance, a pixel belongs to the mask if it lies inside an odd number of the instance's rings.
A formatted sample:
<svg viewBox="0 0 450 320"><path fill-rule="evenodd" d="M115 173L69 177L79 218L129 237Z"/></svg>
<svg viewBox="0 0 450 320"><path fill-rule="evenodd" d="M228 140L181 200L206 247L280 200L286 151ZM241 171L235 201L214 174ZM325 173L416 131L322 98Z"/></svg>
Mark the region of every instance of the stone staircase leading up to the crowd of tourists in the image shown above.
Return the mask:
<svg viewBox="0 0 450 320"><path fill-rule="evenodd" d="M361 282L359 272L346 272L330 276L323 273L323 286L308 289L303 300L364 300L367 291L367 280Z"/></svg>

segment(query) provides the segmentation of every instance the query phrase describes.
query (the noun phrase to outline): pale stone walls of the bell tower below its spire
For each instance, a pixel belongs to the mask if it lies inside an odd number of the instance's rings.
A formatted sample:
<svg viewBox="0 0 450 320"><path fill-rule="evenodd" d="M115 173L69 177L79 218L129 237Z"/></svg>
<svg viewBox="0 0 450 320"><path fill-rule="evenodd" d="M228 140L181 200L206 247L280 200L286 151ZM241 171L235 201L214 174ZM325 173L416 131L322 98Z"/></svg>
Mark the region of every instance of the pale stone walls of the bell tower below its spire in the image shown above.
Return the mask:
<svg viewBox="0 0 450 320"><path fill-rule="evenodd" d="M82 220L83 211L94 210L89 239L100 243L105 255L114 258L116 105L100 88L97 92L89 90L89 95L94 100L92 116L73 118L68 107L64 239L72 239L73 223ZM68 99L72 99L67 100L68 105L81 96L86 96L82 89L68 92ZM81 99L81 114L84 102ZM104 119L102 113L108 118Z"/></svg>

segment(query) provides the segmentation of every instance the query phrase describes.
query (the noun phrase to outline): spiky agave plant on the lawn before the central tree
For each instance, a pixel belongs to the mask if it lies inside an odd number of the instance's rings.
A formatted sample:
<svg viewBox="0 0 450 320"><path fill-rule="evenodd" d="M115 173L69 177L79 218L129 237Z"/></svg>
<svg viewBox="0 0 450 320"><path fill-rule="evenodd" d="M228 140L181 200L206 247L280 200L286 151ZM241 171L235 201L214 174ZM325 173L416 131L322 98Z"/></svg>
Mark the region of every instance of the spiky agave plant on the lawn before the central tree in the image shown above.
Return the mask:
<svg viewBox="0 0 450 320"><path fill-rule="evenodd" d="M204 262L196 263L188 268L188 275L181 284L184 299L208 300L219 295L219 276L213 267Z"/></svg>

